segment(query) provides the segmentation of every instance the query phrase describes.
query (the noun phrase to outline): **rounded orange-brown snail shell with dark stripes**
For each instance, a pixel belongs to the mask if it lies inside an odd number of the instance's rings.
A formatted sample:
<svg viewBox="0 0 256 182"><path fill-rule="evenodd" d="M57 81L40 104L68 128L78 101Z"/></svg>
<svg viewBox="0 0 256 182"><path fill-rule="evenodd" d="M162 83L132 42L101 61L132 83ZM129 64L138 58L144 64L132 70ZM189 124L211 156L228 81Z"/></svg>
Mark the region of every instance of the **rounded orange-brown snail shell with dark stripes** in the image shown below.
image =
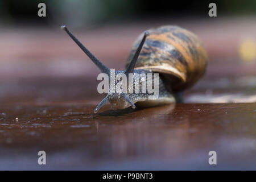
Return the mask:
<svg viewBox="0 0 256 182"><path fill-rule="evenodd" d="M144 43L135 69L151 69L161 73L165 83L168 82L167 88L174 91L192 86L204 75L208 56L195 34L177 26L162 26L148 31L150 36ZM142 36L135 40L126 67Z"/></svg>

